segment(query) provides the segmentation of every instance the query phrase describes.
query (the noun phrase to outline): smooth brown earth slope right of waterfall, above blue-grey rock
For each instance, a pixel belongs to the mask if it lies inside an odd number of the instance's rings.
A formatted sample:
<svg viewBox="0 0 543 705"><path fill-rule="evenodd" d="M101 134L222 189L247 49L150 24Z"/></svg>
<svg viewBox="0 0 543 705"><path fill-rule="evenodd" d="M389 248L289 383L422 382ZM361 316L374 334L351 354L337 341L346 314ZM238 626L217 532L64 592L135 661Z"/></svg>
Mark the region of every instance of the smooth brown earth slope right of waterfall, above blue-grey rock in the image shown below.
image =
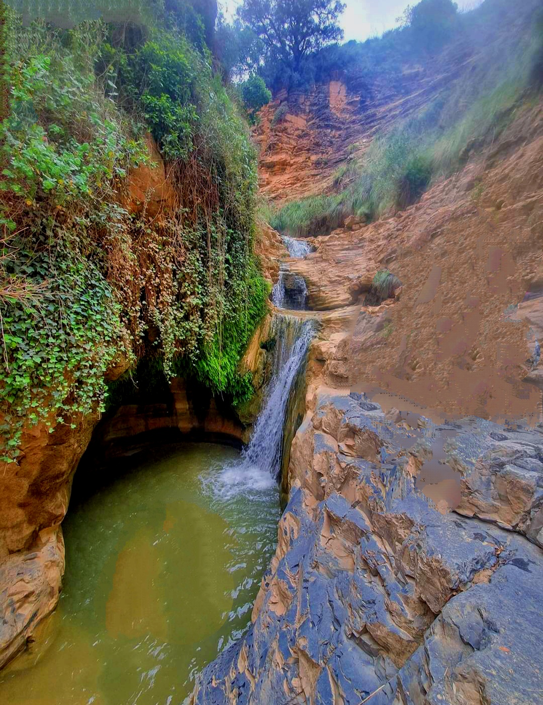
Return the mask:
<svg viewBox="0 0 543 705"><path fill-rule="evenodd" d="M541 386L528 358L543 338L542 223L537 106L406 212L314 238L316 252L290 264L313 308L332 318L358 306L335 346L316 346L316 376L401 396L426 413L534 418ZM397 298L361 306L385 267L401 280Z"/></svg>

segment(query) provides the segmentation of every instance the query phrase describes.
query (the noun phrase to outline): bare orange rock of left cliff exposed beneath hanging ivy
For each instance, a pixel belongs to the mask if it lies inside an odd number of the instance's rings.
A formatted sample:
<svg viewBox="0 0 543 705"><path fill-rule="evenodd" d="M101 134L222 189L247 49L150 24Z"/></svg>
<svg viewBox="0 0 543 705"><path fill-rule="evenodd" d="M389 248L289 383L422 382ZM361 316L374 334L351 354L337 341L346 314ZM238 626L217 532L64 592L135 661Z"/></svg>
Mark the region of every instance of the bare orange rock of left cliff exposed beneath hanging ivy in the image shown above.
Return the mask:
<svg viewBox="0 0 543 705"><path fill-rule="evenodd" d="M133 214L168 217L175 200L173 188L156 145L150 138L147 144L151 162L130 173L119 200ZM279 236L269 228L263 226L257 240L277 257L284 252ZM273 265L270 271L265 269L270 281L274 272ZM158 403L118 405L103 419L97 411L78 414L64 423L54 422L52 432L44 423L25 430L18 462L0 472L0 668L25 647L58 603L65 565L61 523L73 474L93 434L101 460L108 454L122 455L125 446L144 443L156 431L175 431L189 439L246 441L270 372L266 350L261 348L270 320L267 315L261 321L240 362L242 374L251 373L256 394L237 410L175 378L166 399ZM114 382L126 370L127 361L118 360L106 379Z"/></svg>

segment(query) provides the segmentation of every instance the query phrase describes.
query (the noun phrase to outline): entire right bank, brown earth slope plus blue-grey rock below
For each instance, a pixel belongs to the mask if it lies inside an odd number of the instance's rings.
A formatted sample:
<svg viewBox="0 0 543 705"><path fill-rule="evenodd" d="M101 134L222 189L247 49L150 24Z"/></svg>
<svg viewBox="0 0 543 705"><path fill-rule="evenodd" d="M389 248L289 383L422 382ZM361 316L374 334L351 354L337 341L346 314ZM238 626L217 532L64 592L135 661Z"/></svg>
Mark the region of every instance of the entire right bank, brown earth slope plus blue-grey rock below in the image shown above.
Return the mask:
<svg viewBox="0 0 543 705"><path fill-rule="evenodd" d="M320 321L289 503L192 705L543 702L542 154L532 104L420 203L288 262ZM278 198L287 172L263 157ZM364 306L384 266L402 286Z"/></svg>

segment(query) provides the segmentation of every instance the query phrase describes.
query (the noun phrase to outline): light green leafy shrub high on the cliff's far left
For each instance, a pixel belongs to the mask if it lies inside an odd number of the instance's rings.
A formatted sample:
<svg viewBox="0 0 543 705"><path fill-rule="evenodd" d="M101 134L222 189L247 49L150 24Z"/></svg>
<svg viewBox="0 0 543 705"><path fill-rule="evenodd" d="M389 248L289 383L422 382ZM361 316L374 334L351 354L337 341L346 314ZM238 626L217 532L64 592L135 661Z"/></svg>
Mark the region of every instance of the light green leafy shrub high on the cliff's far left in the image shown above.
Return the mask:
<svg viewBox="0 0 543 705"><path fill-rule="evenodd" d="M56 205L108 190L127 166L143 159L142 143L112 104L94 92L94 77L69 54L36 54L11 75L11 114L0 125L0 190ZM46 123L40 116L47 115Z"/></svg>

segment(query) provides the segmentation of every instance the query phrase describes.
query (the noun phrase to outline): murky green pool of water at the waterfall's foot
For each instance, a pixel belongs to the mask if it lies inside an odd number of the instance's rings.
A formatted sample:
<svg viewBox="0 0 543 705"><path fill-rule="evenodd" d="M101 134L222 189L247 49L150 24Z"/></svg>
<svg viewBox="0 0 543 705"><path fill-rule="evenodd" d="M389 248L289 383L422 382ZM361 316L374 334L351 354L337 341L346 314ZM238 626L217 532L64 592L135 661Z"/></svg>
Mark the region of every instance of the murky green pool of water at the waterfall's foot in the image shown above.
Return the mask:
<svg viewBox="0 0 543 705"><path fill-rule="evenodd" d="M275 550L275 483L223 446L146 455L70 506L60 605L0 673L1 702L179 703L246 629Z"/></svg>

